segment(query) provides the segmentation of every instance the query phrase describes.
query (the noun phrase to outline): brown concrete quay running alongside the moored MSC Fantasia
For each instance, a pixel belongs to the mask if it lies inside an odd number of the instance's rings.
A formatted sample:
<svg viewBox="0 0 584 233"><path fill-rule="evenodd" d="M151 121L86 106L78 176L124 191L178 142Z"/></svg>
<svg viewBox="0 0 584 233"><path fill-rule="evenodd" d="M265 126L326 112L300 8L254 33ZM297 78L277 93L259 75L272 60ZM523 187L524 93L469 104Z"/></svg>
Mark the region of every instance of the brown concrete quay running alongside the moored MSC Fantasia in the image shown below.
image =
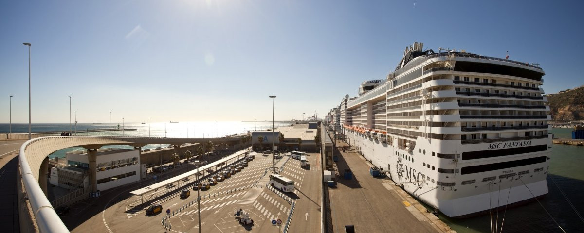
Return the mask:
<svg viewBox="0 0 584 233"><path fill-rule="evenodd" d="M346 143L336 142L336 146ZM335 149L336 150L336 149ZM390 178L375 178L369 174L373 167L354 151L340 152L334 163L335 187L325 186L330 203L326 213L329 224L325 232L345 232L353 225L355 232L456 232L444 224ZM352 179L343 179L350 169ZM340 171L340 172L339 172Z"/></svg>

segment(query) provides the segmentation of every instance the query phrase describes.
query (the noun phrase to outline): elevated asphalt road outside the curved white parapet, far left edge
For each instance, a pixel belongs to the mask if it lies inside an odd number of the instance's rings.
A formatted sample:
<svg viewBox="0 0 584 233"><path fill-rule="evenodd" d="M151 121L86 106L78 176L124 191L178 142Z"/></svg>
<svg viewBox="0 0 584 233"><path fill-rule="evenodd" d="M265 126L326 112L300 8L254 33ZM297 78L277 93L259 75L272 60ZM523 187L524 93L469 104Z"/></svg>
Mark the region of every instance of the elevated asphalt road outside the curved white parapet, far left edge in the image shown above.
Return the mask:
<svg viewBox="0 0 584 233"><path fill-rule="evenodd" d="M18 150L26 141L0 141L0 232L19 232L16 168Z"/></svg>

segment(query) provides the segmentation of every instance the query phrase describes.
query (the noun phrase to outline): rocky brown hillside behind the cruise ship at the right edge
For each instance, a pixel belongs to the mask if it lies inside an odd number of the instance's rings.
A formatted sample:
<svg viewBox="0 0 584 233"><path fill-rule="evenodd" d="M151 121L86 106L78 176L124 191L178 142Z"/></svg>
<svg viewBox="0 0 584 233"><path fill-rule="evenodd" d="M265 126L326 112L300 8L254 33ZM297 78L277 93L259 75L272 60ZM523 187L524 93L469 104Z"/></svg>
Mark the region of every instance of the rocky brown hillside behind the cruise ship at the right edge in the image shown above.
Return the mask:
<svg viewBox="0 0 584 233"><path fill-rule="evenodd" d="M550 102L552 119L569 121L584 119L584 86L546 96Z"/></svg>

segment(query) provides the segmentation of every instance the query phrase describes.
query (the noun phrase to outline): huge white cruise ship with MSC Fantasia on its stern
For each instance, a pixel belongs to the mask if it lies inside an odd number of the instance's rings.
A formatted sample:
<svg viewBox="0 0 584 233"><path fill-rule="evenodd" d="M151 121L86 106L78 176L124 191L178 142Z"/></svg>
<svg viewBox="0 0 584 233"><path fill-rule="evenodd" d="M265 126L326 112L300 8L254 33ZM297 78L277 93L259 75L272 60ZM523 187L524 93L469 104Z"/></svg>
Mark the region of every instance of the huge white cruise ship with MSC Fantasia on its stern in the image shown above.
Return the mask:
<svg viewBox="0 0 584 233"><path fill-rule="evenodd" d="M406 192L449 217L548 193L550 107L533 63L406 47L385 79L361 83L325 118Z"/></svg>

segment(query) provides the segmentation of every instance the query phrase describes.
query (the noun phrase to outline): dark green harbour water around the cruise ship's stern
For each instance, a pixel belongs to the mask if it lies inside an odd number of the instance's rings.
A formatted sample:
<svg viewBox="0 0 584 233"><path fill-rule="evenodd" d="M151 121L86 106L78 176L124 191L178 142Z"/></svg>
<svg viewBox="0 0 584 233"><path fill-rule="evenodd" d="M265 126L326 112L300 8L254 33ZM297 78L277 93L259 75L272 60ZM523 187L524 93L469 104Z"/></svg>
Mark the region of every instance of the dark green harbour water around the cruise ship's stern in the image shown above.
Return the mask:
<svg viewBox="0 0 584 233"><path fill-rule="evenodd" d="M558 138L571 138L573 129L554 128L554 133ZM502 232L562 232L558 225L565 232L582 232L584 223L566 202L564 194L572 202L580 214L584 214L584 169L582 167L584 158L584 147L564 144L553 144L550 160L550 174L547 178L550 192L540 204L531 202L524 206L507 209L505 224ZM555 181L555 183L554 183ZM555 185L557 184L557 186ZM488 202L489 200L485 200ZM551 217L545 213L547 210ZM503 217L503 211L499 209L499 230ZM554 223L554 220L557 222ZM491 232L489 227L489 215L467 218L453 219L440 216L440 219L450 225L453 230L462 233L468 232Z"/></svg>

